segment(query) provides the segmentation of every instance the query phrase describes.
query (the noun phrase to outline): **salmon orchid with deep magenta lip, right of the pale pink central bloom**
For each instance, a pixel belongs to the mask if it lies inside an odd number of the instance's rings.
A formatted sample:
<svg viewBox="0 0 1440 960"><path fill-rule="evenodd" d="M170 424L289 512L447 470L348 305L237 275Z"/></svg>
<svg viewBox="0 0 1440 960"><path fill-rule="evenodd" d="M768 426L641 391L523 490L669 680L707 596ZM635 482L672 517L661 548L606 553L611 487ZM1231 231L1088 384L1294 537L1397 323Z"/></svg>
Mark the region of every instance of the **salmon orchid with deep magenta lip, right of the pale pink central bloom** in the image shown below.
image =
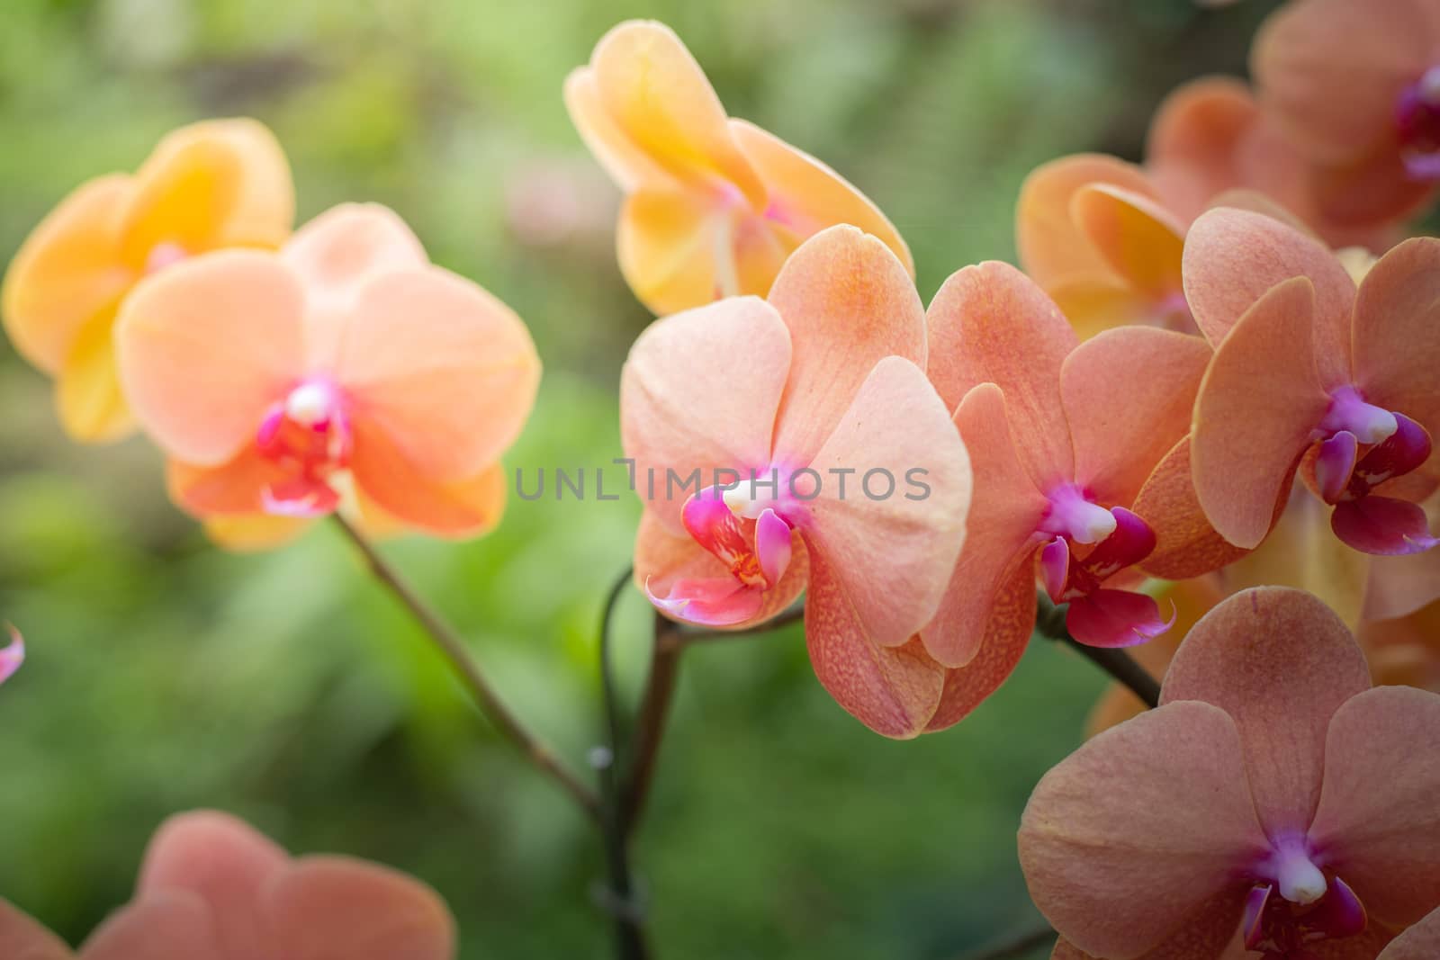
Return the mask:
<svg viewBox="0 0 1440 960"><path fill-rule="evenodd" d="M1037 573L1051 600L1070 604L1066 625L1081 643L1129 646L1164 633L1155 599L1133 590L1145 579L1136 567L1155 551L1158 528L1189 528L1197 512L1146 491L1155 478L1169 482L1161 463L1184 461L1210 348L1146 327L1080 344L1044 292L1005 263L955 273L929 324L930 380L955 410L975 471L966 547L920 630L932 656L963 668L950 678L953 704L973 707L1020 659L1035 623ZM1224 545L1212 531L1192 535L1215 566L1233 556L1214 553Z"/></svg>

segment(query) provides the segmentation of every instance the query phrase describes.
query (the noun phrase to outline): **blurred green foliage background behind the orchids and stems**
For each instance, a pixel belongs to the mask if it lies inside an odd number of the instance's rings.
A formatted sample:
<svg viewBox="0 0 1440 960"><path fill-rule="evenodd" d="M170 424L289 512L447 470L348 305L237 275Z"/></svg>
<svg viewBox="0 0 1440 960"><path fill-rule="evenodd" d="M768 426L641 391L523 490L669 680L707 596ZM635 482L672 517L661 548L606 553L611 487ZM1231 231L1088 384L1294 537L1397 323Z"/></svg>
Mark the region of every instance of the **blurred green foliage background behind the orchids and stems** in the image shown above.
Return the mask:
<svg viewBox="0 0 1440 960"><path fill-rule="evenodd" d="M613 23L665 20L732 114L858 183L929 298L965 263L1012 258L1027 170L1138 157L1164 94L1241 72L1273 6L6 0L0 253L166 130L258 117L289 151L301 219L390 204L530 322L546 380L510 466L603 465L619 364L649 318L560 83ZM467 959L605 956L588 825L492 737L334 531L212 548L166 502L144 440L71 446L48 381L0 351L0 617L32 651L0 689L0 895L78 941L128 898L156 825L212 806L294 851L428 879ZM384 548L576 764L599 730L595 623L636 517L629 499L511 498L481 541ZM634 694L634 592L619 643ZM636 849L657 953L946 960L1032 928L1014 830L1102 685L1037 645L971 720L899 744L831 702L799 630L693 651Z"/></svg>

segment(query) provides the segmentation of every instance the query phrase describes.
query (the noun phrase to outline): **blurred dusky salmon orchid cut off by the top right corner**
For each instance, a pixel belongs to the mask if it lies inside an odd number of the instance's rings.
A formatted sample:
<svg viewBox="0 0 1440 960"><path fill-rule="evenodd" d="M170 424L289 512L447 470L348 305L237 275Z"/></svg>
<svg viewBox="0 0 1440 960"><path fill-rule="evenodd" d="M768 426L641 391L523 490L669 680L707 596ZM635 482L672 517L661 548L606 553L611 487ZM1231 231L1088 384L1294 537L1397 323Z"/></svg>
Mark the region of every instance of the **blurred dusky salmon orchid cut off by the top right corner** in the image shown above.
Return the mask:
<svg viewBox="0 0 1440 960"><path fill-rule="evenodd" d="M1296 0L1251 56L1260 104L1305 160L1320 209L1400 217L1440 180L1440 10L1433 0Z"/></svg>

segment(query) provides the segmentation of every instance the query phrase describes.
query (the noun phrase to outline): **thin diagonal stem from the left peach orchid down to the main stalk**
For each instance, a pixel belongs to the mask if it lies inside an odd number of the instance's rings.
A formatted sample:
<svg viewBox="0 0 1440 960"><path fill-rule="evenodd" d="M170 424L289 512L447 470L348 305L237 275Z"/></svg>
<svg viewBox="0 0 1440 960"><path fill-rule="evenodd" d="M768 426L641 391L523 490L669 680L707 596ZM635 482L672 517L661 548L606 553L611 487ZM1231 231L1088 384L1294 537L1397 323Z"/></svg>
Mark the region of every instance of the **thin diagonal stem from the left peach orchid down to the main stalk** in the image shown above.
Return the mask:
<svg viewBox="0 0 1440 960"><path fill-rule="evenodd" d="M495 727L495 730L511 744L514 744L520 753L530 760L541 773L549 776L552 780L560 784L566 793L589 815L592 819L598 819L600 815L600 799L596 796L586 783L583 783L575 773L564 766L560 757L549 746L541 743L534 734L531 734L520 723L520 720L505 707L504 701L500 699L498 694L491 688L490 681L481 672L480 665L471 656L469 649L465 642L459 638L455 629L441 619L425 600L422 600L413 589L405 580L400 579L399 573L390 567L384 558L376 553L374 547L370 544L364 535L350 525L340 514L334 515L336 524L344 533L346 538L354 544L360 556L364 557L366 566L369 566L370 573L374 574L376 580L384 586L390 594L400 602L400 604L409 610L410 616L425 628L425 633L435 643L435 648L441 655L449 662L451 669L455 671L456 678L465 685L471 697L475 699L475 705L485 715L487 720Z"/></svg>

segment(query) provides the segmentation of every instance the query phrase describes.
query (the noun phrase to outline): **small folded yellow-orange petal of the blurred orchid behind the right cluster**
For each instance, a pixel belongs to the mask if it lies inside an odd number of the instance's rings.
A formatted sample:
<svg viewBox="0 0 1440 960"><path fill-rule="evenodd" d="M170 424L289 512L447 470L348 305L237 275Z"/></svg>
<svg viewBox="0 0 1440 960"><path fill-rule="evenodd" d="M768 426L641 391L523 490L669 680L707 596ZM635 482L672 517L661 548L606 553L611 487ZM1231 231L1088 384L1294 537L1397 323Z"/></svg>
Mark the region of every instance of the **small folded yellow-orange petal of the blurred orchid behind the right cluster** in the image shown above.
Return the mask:
<svg viewBox="0 0 1440 960"><path fill-rule="evenodd" d="M1076 227L1119 276L1143 294L1181 295L1185 225L1145 194L1104 184L1081 187L1070 200Z"/></svg>

